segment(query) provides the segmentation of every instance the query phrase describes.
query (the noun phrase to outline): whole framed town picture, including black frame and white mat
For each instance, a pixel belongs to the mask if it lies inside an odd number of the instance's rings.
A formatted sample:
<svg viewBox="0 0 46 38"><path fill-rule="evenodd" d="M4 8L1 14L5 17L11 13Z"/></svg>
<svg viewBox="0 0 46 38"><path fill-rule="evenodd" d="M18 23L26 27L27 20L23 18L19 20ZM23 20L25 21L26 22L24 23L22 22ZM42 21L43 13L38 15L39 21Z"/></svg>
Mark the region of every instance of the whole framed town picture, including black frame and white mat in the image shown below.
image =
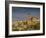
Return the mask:
<svg viewBox="0 0 46 38"><path fill-rule="evenodd" d="M6 2L6 36L44 35L44 3Z"/></svg>

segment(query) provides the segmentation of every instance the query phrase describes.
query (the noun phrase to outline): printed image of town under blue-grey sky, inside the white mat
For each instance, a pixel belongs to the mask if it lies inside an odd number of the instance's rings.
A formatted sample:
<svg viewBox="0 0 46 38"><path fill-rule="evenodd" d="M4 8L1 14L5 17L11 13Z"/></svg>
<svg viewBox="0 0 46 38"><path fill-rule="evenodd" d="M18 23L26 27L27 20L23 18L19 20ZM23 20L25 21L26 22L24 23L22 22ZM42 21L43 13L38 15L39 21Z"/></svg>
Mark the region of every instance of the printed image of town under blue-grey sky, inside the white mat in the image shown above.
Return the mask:
<svg viewBox="0 0 46 38"><path fill-rule="evenodd" d="M40 30L40 8L12 7L12 31Z"/></svg>

